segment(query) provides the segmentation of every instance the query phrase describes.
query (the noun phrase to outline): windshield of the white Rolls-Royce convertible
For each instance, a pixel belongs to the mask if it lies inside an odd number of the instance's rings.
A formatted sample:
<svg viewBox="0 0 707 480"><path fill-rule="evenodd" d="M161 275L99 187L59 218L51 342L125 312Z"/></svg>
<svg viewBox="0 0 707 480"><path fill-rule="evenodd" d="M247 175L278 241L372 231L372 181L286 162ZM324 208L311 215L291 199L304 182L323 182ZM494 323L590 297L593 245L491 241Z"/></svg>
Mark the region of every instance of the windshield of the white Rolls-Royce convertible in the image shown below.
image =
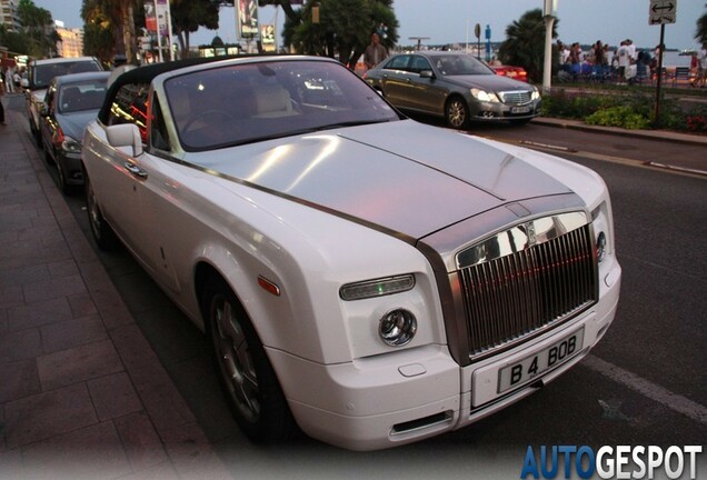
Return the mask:
<svg viewBox="0 0 707 480"><path fill-rule="evenodd" d="M169 79L165 90L187 151L399 119L346 67L321 61L218 67Z"/></svg>

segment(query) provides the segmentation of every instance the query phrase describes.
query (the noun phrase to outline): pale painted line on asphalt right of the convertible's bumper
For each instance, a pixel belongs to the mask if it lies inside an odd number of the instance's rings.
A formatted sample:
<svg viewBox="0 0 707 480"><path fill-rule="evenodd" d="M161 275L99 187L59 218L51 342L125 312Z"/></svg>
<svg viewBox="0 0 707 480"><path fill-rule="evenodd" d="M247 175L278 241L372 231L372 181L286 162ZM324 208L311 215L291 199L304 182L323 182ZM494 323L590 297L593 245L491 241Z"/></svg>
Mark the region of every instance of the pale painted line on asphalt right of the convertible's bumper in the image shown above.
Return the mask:
<svg viewBox="0 0 707 480"><path fill-rule="evenodd" d="M649 380L624 370L620 367L588 354L580 363L589 369L621 383L625 387L649 398L668 409L681 413L704 426L707 426L707 408L670 390L664 389Z"/></svg>

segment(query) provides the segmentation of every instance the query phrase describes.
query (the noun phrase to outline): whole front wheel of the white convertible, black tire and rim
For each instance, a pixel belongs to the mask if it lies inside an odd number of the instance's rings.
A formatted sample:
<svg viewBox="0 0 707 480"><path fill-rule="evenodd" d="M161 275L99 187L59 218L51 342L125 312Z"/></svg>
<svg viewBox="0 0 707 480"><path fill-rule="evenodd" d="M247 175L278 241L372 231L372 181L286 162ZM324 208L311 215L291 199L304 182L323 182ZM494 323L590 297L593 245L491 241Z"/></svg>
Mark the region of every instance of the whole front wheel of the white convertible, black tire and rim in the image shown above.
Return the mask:
<svg viewBox="0 0 707 480"><path fill-rule="evenodd" d="M201 299L219 382L246 437L257 443L286 441L295 420L258 334L232 290L207 282Z"/></svg>

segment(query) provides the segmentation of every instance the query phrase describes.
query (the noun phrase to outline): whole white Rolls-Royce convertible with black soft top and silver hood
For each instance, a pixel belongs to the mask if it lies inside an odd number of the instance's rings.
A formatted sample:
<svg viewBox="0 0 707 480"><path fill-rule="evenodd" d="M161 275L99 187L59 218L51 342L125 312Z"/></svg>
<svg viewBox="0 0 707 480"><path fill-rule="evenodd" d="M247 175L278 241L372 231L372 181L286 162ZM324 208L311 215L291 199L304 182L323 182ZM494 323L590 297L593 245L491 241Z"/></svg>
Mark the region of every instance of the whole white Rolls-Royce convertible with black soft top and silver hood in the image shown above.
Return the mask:
<svg viewBox="0 0 707 480"><path fill-rule="evenodd" d="M614 320L596 173L405 119L330 59L131 70L83 161L97 242L117 236L206 331L253 440L297 424L371 450L459 429Z"/></svg>

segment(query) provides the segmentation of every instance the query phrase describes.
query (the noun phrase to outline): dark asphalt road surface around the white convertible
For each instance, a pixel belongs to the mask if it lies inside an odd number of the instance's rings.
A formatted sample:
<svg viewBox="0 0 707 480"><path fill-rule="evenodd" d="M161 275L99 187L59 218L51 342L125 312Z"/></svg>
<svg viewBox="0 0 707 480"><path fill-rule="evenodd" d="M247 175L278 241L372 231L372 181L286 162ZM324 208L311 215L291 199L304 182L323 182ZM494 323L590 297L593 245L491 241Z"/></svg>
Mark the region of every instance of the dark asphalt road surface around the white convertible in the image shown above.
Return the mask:
<svg viewBox="0 0 707 480"><path fill-rule="evenodd" d="M617 318L585 361L536 394L464 430L371 453L305 437L278 448L252 446L228 412L202 334L125 249L98 251L236 478L518 478L529 444L596 449L707 443L707 178L636 167L661 154L691 158L704 157L704 151L645 141L631 142L629 149L626 139L535 124L484 127L475 133L514 142L561 141L564 148L578 150L555 153L595 169L606 180L624 280ZM48 169L57 180L56 168ZM67 200L90 237L83 199ZM699 457L698 478L707 477L706 458Z"/></svg>

